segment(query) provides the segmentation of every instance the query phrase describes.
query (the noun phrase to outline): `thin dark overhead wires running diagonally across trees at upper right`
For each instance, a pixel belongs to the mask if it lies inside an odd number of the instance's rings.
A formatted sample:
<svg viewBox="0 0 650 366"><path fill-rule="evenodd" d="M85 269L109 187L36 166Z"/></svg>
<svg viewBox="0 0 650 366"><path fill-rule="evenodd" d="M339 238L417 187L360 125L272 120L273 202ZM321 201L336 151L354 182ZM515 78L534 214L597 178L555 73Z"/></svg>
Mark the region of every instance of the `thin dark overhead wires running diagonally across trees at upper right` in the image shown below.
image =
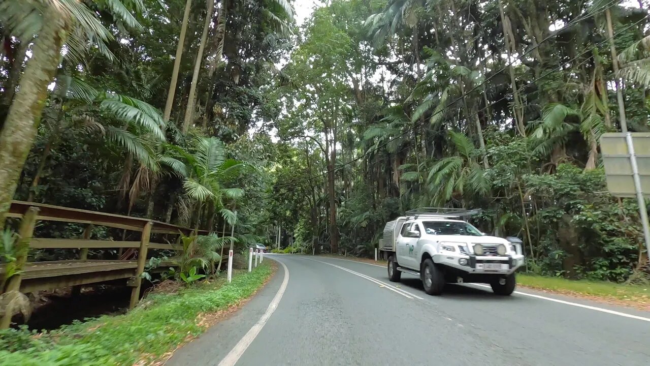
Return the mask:
<svg viewBox="0 0 650 366"><path fill-rule="evenodd" d="M618 0L612 0L610 3L608 3L608 5L604 5L603 8L600 8L599 10L595 10L595 11L593 11L593 12L590 12L590 13L588 13L588 14L585 14L584 16L582 16L582 18L578 17L578 18L576 18L575 20L570 21L569 23L567 23L567 24L564 26L564 28L565 28L565 27L570 27L570 26L574 25L575 23L577 23L578 21L582 21L582 20L584 20L584 19L586 19L586 18L590 18L591 16L595 16L596 14L598 14L598 13L600 13L600 12L603 12L603 11L605 11L605 10L608 10L609 8L613 7L614 5L617 5L617 3L618 3ZM628 27L626 27L625 29L623 29L623 31L627 31L627 29L630 29L631 27L634 27L635 25L638 25L639 23L641 23L641 22L644 21L644 20L645 20L645 18L641 18L640 20L636 21L635 23L632 23L631 25L629 25ZM619 34L622 33L623 31L619 32ZM533 46L532 48L528 49L528 51L526 51L525 53L523 53L521 56L517 57L515 60L513 60L513 61L511 61L510 63L506 64L506 66L504 66L503 68L501 68L498 72L495 72L492 76L488 77L488 78L487 78L486 80L484 80L482 83L476 85L476 87L474 87L473 89L471 89L469 92L466 92L465 94L463 94L463 95L461 95L460 97L456 98L456 100L454 100L453 102L451 102L450 104L448 104L447 107L449 107L449 106L453 106L454 104L456 104L457 102L459 102L460 100L462 100L463 98L465 98L465 96L467 96L467 95L471 94L472 92L476 91L478 88L482 87L482 86L485 85L488 81L490 81L491 79L493 79L495 76L497 76L497 75L500 74L501 72L504 72L504 70L506 70L506 68L508 68L509 66L512 66L512 64L515 63L515 61L521 61L521 59L522 59L523 57L525 57L526 55L528 55L528 53L534 51L534 49L538 48L538 47L539 47L543 42L546 42L547 40L549 40L549 39L551 39L551 38L552 38L552 35L547 36L546 38L544 38L543 40L541 40L538 44L536 44L536 46ZM596 44L595 46L596 46L596 47L598 47L598 46L602 46L605 42L608 42L608 41L611 40L612 38L616 38L616 36L614 36L614 37L610 37L610 38L606 38L605 40L599 42L599 43ZM586 55L586 54L589 53L590 51L591 51L591 49L590 49L590 50L587 50L587 51L584 51L583 53L581 53L581 54L578 55L577 57L573 57L573 59L571 59L571 60L565 62L564 64L571 63L572 61L575 61L575 60L579 59L580 57ZM583 63L585 63L585 62L586 62L586 61L583 61L582 63L578 64L578 66L580 66L581 64L583 64ZM547 77L547 76L549 76L550 74L552 74L552 73L554 73L554 72L557 72L557 71L559 71L559 70L562 70L562 66L558 66L557 68L554 68L553 70L547 72L546 74L543 74L542 76L539 76L539 77L537 77L536 79L534 79L534 80L528 82L528 83L527 83L526 85L524 85L523 87L517 89L516 92L520 92L520 91L522 91L523 89L525 89L526 87L528 87L528 85L530 85L530 84L532 84L532 83L535 83L536 81L539 81L540 79L543 79L544 77ZM514 92L515 92L515 91L512 91L512 92L510 92L510 93L514 94ZM474 115L478 115L478 113L481 113L482 111L485 111L485 110L488 109L489 107L495 106L496 104L498 104L498 103L500 103L500 102L502 102L503 100L506 100L506 99L507 99L507 97L504 96L504 97L502 97L501 99L497 100L496 102L493 102L493 103L489 104L489 106L486 106L486 107L480 109L479 111L476 111L476 113L472 113L471 115L468 115L467 118L469 119L470 117L474 117ZM443 113L443 111L439 111L439 112L437 112L437 113L434 113L434 115L432 115L432 116L430 117L430 119L431 119L432 117L434 117L435 115L437 115L438 113ZM419 123L416 124L415 126L413 126L413 128L416 128L416 127L419 127ZM446 131L446 130L445 130L445 131ZM320 173L320 174L315 175L315 176L311 176L311 177L309 177L309 178L304 178L304 179L302 179L302 180L294 180L293 182L289 182L289 183L285 183L285 184L274 184L273 187L274 187L274 188L281 188L281 187L286 187L286 186L293 186L294 184L299 184L299 183L303 183L303 182L308 182L309 180L314 180L314 179L316 179L316 178L320 178L321 176L328 175L328 173L331 173L331 172L333 172L333 171L340 170L340 169L342 169L342 168L343 168L344 166L346 166L346 165L350 165L351 163L354 163L354 162L357 162L357 161L361 160L362 158L364 158L365 156L367 156L367 155L370 154L371 152L375 152L375 151L379 150L380 148L385 147L385 146L388 145L389 143L395 141L395 140L398 139L399 137L402 137L402 136L408 134L409 132L411 132L411 129L408 129L408 130L402 132L402 134L396 135L395 137L389 139L388 141L386 141L386 142L383 143L382 145L380 145L380 146L374 148L373 150L368 150L367 152L365 152L365 153L363 153L363 154L357 156L356 158L350 160L350 161L347 162L347 163L342 164L342 165L339 166L339 167L335 167L335 168L333 168L333 169L329 169L329 170L327 170L327 171L324 171L323 173ZM437 132L437 133L434 134L432 137L435 137L435 136L437 136L438 134L441 134L441 132ZM400 150L399 152L401 152L401 151L403 151L403 150L405 150L405 148L403 148L403 149Z"/></svg>

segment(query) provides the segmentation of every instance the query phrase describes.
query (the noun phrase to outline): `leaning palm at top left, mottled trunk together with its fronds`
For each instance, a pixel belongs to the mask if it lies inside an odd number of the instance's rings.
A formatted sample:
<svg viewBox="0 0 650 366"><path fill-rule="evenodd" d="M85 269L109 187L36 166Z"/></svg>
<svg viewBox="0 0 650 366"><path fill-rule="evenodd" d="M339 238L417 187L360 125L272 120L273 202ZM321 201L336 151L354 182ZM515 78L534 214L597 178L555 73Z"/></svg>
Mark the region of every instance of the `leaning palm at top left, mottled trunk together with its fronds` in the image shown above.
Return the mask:
<svg viewBox="0 0 650 366"><path fill-rule="evenodd" d="M107 0L106 3L110 4L115 19L133 24L127 16L130 15L128 11L115 11L125 9L119 0ZM140 0L130 3L142 5ZM85 3L77 0L2 1L0 23L6 32L22 41L37 35L32 46L32 57L25 65L18 92L0 133L0 161L3 163L0 169L2 229L20 172L36 137L47 97L47 86L59 68L62 47L65 44L71 57L79 58L88 48L88 42L91 42L104 55L111 58L114 56L105 44L112 39L111 33Z"/></svg>

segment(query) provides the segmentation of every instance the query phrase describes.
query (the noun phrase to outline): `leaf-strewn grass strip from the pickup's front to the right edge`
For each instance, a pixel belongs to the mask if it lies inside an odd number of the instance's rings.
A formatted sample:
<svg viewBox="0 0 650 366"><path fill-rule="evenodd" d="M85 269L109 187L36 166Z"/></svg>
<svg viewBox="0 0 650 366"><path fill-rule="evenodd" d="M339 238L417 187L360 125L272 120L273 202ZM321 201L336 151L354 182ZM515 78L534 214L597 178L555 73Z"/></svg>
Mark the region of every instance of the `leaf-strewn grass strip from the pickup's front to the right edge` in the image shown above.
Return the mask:
<svg viewBox="0 0 650 366"><path fill-rule="evenodd" d="M574 281L562 277L541 277L525 274L517 274L517 283L533 289L650 302L650 289L645 286L621 285L606 281Z"/></svg>

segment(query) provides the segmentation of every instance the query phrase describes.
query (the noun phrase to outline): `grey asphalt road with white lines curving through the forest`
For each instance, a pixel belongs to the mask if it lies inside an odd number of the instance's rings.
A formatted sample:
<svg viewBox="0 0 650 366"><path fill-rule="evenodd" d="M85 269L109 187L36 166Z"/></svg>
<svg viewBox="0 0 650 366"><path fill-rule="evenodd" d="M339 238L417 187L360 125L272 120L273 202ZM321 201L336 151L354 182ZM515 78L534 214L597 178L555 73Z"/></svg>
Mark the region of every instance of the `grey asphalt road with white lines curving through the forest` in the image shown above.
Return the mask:
<svg viewBox="0 0 650 366"><path fill-rule="evenodd" d="M287 275L281 265L240 311L166 365L231 366L233 348L238 366L650 365L650 321L643 320L650 313L530 290L500 297L476 285L448 285L443 296L428 296L417 277L390 283L380 266L268 257L286 265L289 280L261 329Z"/></svg>

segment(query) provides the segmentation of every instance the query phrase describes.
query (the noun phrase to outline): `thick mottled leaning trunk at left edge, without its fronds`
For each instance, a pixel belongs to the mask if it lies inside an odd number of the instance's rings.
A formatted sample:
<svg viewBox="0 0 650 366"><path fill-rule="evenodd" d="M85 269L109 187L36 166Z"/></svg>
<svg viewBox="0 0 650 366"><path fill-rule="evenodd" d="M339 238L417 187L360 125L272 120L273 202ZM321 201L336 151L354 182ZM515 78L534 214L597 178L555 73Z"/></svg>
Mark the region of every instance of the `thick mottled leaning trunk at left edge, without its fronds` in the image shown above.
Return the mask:
<svg viewBox="0 0 650 366"><path fill-rule="evenodd" d="M44 19L47 21L34 40L32 57L27 61L0 133L0 229L5 227L6 213L16 193L20 172L34 144L47 99L47 86L59 67L61 47L70 27L69 14L53 6L45 10Z"/></svg>

